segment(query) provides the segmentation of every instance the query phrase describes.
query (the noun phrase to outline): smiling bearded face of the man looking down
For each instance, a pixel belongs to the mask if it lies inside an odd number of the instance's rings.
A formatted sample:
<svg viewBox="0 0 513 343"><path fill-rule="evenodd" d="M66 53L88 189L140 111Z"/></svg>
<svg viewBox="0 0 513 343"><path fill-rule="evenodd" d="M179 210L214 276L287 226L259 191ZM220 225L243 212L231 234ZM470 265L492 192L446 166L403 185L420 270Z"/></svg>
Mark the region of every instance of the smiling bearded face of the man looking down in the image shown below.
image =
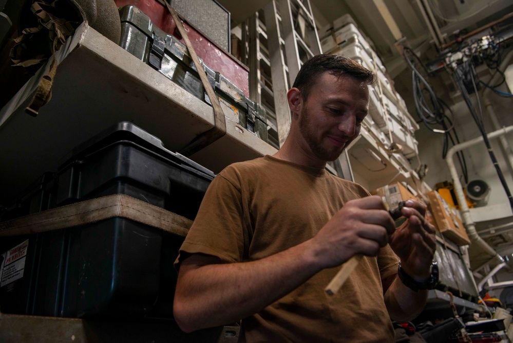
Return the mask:
<svg viewBox="0 0 513 343"><path fill-rule="evenodd" d="M323 74L312 86L299 115L303 147L317 159L333 161L360 133L369 90L352 77Z"/></svg>

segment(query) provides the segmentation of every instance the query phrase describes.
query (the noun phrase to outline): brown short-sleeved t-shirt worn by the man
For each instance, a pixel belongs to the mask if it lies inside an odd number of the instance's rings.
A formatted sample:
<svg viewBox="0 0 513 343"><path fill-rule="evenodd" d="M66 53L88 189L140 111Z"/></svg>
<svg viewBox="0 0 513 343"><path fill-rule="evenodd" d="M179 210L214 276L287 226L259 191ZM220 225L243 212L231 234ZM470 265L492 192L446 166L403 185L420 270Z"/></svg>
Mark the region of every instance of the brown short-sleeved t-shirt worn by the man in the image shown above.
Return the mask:
<svg viewBox="0 0 513 343"><path fill-rule="evenodd" d="M225 168L213 180L180 248L225 262L252 261L309 240L361 186L265 156ZM393 342L382 280L397 272L389 246L364 257L340 292L324 288L339 267L321 270L287 296L242 320L247 342ZM257 297L258 294L255 294Z"/></svg>

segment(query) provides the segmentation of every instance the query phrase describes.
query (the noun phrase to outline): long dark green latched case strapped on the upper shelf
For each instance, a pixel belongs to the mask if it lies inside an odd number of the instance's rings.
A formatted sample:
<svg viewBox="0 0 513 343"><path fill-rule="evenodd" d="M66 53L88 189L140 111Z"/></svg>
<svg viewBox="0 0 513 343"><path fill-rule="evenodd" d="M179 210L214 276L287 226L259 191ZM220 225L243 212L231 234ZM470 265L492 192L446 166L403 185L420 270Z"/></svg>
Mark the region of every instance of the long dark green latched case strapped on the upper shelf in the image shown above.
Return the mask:
<svg viewBox="0 0 513 343"><path fill-rule="evenodd" d="M156 27L137 7L125 6L120 14L121 47L189 93L211 104L185 45ZM219 96L224 115L268 142L267 115L263 107L249 100L239 87L221 73L202 64L208 81Z"/></svg>

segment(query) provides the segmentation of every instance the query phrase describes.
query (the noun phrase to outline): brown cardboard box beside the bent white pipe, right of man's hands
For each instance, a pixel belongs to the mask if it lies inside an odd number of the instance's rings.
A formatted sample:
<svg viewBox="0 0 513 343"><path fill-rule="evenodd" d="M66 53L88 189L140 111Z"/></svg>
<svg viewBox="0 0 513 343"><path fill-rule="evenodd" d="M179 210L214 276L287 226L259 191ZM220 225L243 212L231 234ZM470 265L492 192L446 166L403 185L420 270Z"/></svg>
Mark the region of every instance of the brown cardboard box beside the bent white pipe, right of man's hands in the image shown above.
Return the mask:
<svg viewBox="0 0 513 343"><path fill-rule="evenodd" d="M463 226L458 211L449 205L437 191L427 193L436 228L458 245L469 245L467 231Z"/></svg>

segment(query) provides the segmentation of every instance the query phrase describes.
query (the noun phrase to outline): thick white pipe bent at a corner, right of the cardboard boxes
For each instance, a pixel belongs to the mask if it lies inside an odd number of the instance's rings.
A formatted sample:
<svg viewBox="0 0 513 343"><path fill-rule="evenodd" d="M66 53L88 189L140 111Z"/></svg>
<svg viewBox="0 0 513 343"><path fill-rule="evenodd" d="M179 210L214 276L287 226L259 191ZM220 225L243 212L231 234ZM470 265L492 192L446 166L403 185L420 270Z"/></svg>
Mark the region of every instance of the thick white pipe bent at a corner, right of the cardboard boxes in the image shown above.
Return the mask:
<svg viewBox="0 0 513 343"><path fill-rule="evenodd" d="M513 125L503 128L501 130L497 130L492 133L489 133L487 136L489 139L497 138L497 137L505 135L511 131L513 131ZM447 152L446 161L447 161L447 166L449 167L449 171L452 176L454 191L456 192L456 196L458 198L458 203L461 206L463 222L467 229L468 237L470 238L470 240L472 242L481 246L489 255L498 258L499 261L501 261L501 262L504 262L503 258L499 254L497 254L497 252L491 246L489 246L488 243L486 243L481 237L479 237L479 234L476 231L476 225L472 221L472 217L470 215L470 210L468 209L467 201L465 199L465 194L463 194L463 187L461 185L460 178L458 177L458 171L456 170L456 167L454 165L453 157L454 157L455 153L457 153L460 150L469 148L473 145L476 145L477 143L480 143L481 141L483 141L483 137L477 137L477 138L474 138L474 139L471 139L466 142L463 142L463 143L453 146Z"/></svg>

